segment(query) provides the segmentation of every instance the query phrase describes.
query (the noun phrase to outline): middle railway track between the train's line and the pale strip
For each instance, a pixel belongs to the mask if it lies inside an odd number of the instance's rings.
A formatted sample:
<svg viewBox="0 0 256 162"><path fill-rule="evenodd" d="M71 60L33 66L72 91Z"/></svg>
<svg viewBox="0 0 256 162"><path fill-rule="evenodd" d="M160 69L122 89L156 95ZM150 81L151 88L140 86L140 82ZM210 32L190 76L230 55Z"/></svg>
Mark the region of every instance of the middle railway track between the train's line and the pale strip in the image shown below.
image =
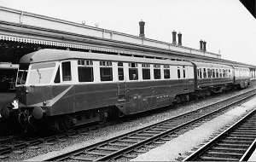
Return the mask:
<svg viewBox="0 0 256 162"><path fill-rule="evenodd" d="M224 112L231 106L247 100L253 94L243 97L241 100L232 101L222 107L213 107L224 101L219 101L207 107L184 113L172 119L166 119L157 124L152 124L139 130L134 130L121 136L116 136L106 141L98 142L84 148L78 148L69 153L62 153L46 161L82 160L82 161L105 161L105 160L129 160L136 158L140 153L146 153L165 142L178 136L183 130L188 130L215 118L218 113ZM251 91L251 92L252 92ZM232 97L231 97L232 98Z"/></svg>

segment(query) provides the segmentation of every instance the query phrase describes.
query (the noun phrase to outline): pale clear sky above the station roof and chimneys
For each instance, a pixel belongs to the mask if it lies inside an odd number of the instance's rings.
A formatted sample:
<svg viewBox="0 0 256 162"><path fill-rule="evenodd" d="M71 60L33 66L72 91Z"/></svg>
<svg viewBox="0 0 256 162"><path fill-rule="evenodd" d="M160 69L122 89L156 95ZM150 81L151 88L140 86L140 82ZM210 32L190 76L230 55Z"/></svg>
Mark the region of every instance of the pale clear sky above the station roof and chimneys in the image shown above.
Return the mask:
<svg viewBox="0 0 256 162"><path fill-rule="evenodd" d="M239 0L0 0L0 6L42 14L131 35L172 43L172 31L183 34L183 46L256 66L256 20ZM1 16L1 15L0 15Z"/></svg>

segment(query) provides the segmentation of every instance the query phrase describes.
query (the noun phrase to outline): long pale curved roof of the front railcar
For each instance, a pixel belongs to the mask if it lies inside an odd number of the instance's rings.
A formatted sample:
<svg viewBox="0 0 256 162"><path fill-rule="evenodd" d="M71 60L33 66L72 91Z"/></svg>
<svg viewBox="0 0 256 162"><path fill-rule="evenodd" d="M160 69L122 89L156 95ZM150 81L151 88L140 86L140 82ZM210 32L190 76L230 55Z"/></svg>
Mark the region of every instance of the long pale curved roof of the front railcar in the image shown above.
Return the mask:
<svg viewBox="0 0 256 162"><path fill-rule="evenodd" d="M91 52L79 52L61 49L40 49L30 54L24 55L20 59L20 63L39 63L47 61L63 61L73 59L88 59L98 61L124 61L124 62L138 62L138 63L152 63L152 64L172 64L172 65L186 65L193 66L189 61L170 61L160 59L149 59L142 57L132 57L125 55L108 55Z"/></svg>

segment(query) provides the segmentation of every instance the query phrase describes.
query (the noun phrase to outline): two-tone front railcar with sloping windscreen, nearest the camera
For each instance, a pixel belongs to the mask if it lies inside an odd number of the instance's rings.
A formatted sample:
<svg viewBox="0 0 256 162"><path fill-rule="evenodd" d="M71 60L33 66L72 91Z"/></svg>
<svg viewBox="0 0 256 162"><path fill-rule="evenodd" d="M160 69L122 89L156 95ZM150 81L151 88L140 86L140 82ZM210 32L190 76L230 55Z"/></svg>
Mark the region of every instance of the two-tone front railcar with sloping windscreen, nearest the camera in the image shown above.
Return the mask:
<svg viewBox="0 0 256 162"><path fill-rule="evenodd" d="M2 116L17 114L23 127L67 130L188 100L194 92L188 61L41 49L20 59L14 107Z"/></svg>

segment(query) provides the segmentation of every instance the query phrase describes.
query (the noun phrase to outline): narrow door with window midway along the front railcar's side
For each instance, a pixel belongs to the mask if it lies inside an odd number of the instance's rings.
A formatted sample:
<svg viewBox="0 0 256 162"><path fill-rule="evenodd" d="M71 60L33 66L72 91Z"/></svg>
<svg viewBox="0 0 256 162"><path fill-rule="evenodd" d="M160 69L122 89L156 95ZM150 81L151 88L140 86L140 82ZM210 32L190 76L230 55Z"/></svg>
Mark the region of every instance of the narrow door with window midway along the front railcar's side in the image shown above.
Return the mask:
<svg viewBox="0 0 256 162"><path fill-rule="evenodd" d="M124 80L125 76L124 76L123 62L118 62L118 73L119 73L119 82L118 82L119 101L125 101L126 82Z"/></svg>

